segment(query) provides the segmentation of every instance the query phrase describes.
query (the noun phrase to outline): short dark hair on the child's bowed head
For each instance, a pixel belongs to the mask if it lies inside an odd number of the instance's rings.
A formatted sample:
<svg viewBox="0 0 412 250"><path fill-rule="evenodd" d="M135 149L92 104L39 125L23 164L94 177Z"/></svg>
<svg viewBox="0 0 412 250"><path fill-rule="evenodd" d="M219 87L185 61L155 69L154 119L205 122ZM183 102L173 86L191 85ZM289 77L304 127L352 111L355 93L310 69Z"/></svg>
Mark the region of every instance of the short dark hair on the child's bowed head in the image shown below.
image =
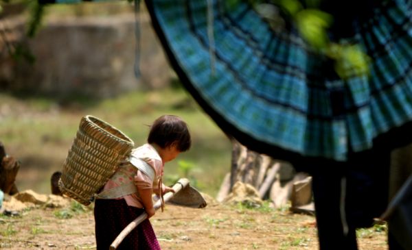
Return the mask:
<svg viewBox="0 0 412 250"><path fill-rule="evenodd" d="M190 149L192 140L187 124L179 116L160 116L150 127L148 143L155 143L165 149L174 142L176 149L181 152Z"/></svg>

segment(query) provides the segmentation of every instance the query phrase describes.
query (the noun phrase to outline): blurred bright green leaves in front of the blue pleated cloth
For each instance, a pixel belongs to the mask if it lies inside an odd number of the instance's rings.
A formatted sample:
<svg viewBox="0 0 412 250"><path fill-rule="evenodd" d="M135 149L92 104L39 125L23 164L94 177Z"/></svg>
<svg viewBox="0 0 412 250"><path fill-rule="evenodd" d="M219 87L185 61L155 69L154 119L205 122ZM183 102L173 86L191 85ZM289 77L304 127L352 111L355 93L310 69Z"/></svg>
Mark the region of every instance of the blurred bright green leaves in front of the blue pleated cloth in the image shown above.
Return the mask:
<svg viewBox="0 0 412 250"><path fill-rule="evenodd" d="M261 0L249 1L275 32L282 32L284 23L294 23L308 45L334 60L335 71L342 79L369 74L369 58L359 45L341 45L329 39L328 28L334 17L319 9L319 0L271 0L268 3Z"/></svg>

